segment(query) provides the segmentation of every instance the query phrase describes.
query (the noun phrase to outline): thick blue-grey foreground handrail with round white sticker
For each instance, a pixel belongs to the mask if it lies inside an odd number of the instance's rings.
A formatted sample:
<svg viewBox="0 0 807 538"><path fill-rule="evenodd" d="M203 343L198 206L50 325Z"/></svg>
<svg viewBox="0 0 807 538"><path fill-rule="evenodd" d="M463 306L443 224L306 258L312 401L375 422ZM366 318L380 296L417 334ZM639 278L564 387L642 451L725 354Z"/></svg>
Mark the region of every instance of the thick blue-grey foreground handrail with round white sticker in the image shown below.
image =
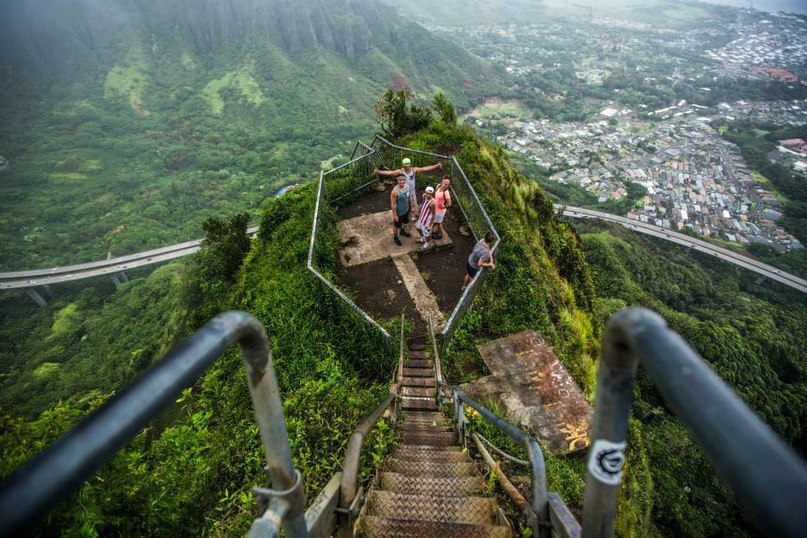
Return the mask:
<svg viewBox="0 0 807 538"><path fill-rule="evenodd" d="M583 536L610 536L641 363L739 503L771 536L807 529L807 465L705 361L643 308L611 316L602 338L583 506Z"/></svg>

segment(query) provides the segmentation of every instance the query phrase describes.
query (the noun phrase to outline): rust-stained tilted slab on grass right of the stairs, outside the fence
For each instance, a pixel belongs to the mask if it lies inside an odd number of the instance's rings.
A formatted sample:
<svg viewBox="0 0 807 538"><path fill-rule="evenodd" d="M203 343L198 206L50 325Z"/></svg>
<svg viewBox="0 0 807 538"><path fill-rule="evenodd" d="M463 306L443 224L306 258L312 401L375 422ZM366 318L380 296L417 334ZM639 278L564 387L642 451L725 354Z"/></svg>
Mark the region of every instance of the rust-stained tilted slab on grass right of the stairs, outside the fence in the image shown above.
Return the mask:
<svg viewBox="0 0 807 538"><path fill-rule="evenodd" d="M462 386L472 397L498 400L510 420L550 450L572 452L591 444L591 404L552 346L524 331L478 349L492 375Z"/></svg>

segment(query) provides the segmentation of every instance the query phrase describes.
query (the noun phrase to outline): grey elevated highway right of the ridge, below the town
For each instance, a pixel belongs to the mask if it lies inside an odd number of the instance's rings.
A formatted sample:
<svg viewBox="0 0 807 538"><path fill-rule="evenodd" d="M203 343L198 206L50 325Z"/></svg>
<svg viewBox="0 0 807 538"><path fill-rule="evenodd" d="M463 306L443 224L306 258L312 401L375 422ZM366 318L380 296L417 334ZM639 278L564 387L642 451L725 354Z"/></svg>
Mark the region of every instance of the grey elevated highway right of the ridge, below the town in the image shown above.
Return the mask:
<svg viewBox="0 0 807 538"><path fill-rule="evenodd" d="M678 243L679 245L690 248L692 250L697 250L698 252L709 254L710 256L714 256L725 262L733 263L734 265L743 267L745 269L748 269L749 271L753 271L754 273L762 275L765 278L769 278L771 280L775 280L776 282L780 282L786 286L790 286L791 288L795 288L801 291L802 293L807 293L807 280L799 278L795 275L791 275L790 273L786 273L785 271L777 269L772 265L759 262L752 258L743 256L741 254L737 254L736 252L733 252L731 250L715 246L711 243L707 243L706 241L703 241L701 239L696 239L689 235L674 232L666 228L660 228L658 226L647 224L638 220L630 220L625 217L612 215L610 213L603 213L602 211L594 211L592 209L583 209L580 207L570 207L559 204L555 204L555 209L558 210L562 209L563 215L566 217L579 218L579 219L600 219L600 220L607 220L610 222L616 222L635 232L651 235L653 237L658 237L659 239L664 239L665 241Z"/></svg>

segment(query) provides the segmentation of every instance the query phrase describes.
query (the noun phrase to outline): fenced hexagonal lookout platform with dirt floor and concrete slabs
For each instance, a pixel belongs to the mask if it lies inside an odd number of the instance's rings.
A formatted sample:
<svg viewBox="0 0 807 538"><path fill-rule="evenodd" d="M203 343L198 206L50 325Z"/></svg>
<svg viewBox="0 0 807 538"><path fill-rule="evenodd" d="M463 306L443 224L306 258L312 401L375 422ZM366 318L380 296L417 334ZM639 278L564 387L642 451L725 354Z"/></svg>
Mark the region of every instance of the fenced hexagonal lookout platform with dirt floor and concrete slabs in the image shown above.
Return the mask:
<svg viewBox="0 0 807 538"><path fill-rule="evenodd" d="M418 203L427 186L436 186L443 175L451 178L452 205L443 226L445 234L435 247L421 251L414 223L411 237L393 242L390 195L391 176L374 176L373 169L398 169L404 157L413 167L443 163L442 170L416 174ZM415 333L425 334L431 318L435 332L443 337L461 318L478 287L480 278L463 291L465 261L481 237L493 229L456 159L395 146L377 137L372 147L358 144L350 162L324 172L320 180L319 204L315 216L309 266L355 310L366 314L368 323L396 318L402 312L415 323ZM323 213L327 204L335 209L339 237L338 267L331 265L332 280L318 267L318 246ZM332 263L332 262L331 262ZM483 271L480 271L481 275ZM356 308L357 307L357 308ZM381 332L383 329L377 327Z"/></svg>

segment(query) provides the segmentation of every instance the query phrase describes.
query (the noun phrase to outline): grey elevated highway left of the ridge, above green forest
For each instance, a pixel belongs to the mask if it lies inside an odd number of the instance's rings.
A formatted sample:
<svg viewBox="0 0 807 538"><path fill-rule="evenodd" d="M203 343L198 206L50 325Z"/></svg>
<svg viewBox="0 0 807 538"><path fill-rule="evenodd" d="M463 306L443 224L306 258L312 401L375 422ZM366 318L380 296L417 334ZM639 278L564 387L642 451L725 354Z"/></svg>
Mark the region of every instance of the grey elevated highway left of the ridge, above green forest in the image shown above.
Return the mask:
<svg viewBox="0 0 807 538"><path fill-rule="evenodd" d="M247 228L247 232L251 236L254 236L257 231L257 226ZM202 239L196 239L195 241L186 241L176 245L138 252L137 254L127 254L126 256L96 262L65 265L64 267L51 267L48 269L0 273L0 290L35 288L37 286L58 284L71 280L114 275L121 271L188 256L199 251L202 241Z"/></svg>

